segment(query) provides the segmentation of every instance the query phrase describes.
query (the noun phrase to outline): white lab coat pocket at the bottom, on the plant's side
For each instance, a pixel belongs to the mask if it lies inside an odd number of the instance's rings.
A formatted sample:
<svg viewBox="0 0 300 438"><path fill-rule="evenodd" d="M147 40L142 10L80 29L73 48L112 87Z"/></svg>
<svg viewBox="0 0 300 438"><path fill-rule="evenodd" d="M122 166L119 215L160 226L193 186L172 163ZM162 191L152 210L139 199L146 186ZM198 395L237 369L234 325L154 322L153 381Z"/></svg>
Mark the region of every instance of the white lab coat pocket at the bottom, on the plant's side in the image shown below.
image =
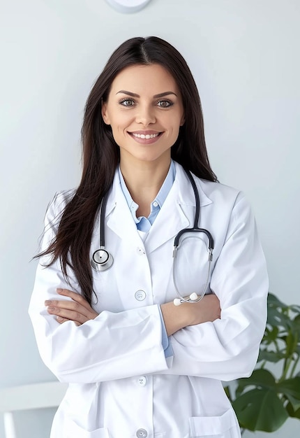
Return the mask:
<svg viewBox="0 0 300 438"><path fill-rule="evenodd" d="M237 419L231 409L221 416L191 417L190 438L240 438Z"/></svg>

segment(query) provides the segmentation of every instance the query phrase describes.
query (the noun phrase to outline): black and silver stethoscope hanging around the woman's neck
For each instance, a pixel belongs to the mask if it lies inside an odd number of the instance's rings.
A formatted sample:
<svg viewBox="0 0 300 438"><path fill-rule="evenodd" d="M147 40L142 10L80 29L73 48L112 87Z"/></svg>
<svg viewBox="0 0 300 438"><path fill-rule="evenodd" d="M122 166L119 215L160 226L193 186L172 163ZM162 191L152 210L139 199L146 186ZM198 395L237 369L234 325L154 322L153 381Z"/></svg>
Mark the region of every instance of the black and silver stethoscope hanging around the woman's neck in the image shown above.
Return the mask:
<svg viewBox="0 0 300 438"><path fill-rule="evenodd" d="M194 226L193 228L184 228L179 231L177 236L174 239L174 249L173 249L173 268L172 268L172 275L173 275L173 281L174 286L177 292L178 298L174 299L174 305L179 306L182 303L197 303L200 302L200 300L204 297L205 292L207 291L207 286L209 285L209 277L211 273L211 262L213 260L213 236L211 236L211 233L204 228L199 228L198 223L200 219L200 197L197 190L197 186L195 183L195 180L193 176L190 174L190 171L186 170L186 175L188 176L190 183L193 187L194 195L195 195L195 202L196 202L196 210L195 210L195 218L194 218ZM95 269L96 271L107 271L107 269L110 269L112 267L112 264L114 262L114 259L112 255L107 251L105 248L105 208L107 204L107 199L109 196L110 190L108 190L103 197L103 200L100 205L100 248L96 250L92 257L91 257L91 267ZM207 278L206 283L204 285L204 288L200 294L197 294L196 292L193 292L190 294L189 297L183 297L178 288L177 288L177 281L176 281L176 267L177 264L177 252L180 248L181 243L187 239L189 236L187 233L204 233L207 236L207 239L209 241L209 256L208 256L208 268L207 268ZM186 237L184 237L184 234L186 234Z"/></svg>

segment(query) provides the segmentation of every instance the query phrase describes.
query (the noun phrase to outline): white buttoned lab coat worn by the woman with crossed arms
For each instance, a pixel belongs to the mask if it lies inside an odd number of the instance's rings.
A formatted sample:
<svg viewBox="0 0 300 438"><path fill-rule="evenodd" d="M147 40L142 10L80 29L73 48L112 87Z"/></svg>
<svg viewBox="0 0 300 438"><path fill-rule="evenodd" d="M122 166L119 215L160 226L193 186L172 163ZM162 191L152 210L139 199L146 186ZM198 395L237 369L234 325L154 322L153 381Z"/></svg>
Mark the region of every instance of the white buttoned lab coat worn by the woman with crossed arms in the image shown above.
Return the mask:
<svg viewBox="0 0 300 438"><path fill-rule="evenodd" d="M38 266L29 313L40 355L62 382L70 383L54 418L52 438L239 437L239 426L221 381L253 371L266 323L268 280L255 220L241 192L195 178L200 227L213 235L210 290L221 318L170 337L173 356L161 345L158 304L177 297L172 276L174 236L193 226L195 197L182 167L147 239L143 241L116 173L105 213L105 243L114 264L93 272L99 313L80 327L59 325L44 306L68 288L59 262ZM54 218L70 192L46 214L43 248ZM207 275L207 240L187 239L178 265L183 295L199 291ZM99 247L99 222L91 254ZM200 257L195 250L200 250ZM183 249L183 246L182 246ZM40 262L43 263L45 258ZM71 276L71 288L80 292ZM136 293L137 291L142 291ZM143 299L141 300L141 297ZM193 305L193 304L190 304Z"/></svg>

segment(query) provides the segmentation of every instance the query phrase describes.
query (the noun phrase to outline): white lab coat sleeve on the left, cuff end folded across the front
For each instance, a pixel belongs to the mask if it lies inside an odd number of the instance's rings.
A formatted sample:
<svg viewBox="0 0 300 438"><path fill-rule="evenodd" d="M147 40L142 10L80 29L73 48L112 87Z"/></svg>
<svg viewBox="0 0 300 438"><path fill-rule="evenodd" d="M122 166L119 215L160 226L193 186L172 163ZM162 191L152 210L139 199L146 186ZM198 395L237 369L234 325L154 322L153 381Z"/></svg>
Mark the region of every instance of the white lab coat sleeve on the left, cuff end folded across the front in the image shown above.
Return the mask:
<svg viewBox="0 0 300 438"><path fill-rule="evenodd" d="M62 204L58 196L47 211L42 250L54 237ZM71 271L68 284L60 262L43 266L47 262L49 258L43 257L38 264L29 315L41 358L60 381L110 381L167 369L158 305L119 313L103 311L80 326L73 321L59 324L47 313L45 299L58 299L57 288L80 290Z"/></svg>

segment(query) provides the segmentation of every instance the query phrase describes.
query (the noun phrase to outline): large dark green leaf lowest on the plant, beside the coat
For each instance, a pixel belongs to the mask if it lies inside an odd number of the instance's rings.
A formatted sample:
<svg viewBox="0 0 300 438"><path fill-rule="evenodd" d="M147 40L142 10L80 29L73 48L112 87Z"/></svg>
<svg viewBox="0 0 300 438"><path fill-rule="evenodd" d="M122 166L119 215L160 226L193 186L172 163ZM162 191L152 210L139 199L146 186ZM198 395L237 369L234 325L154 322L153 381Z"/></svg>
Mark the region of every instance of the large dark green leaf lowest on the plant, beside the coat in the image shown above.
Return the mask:
<svg viewBox="0 0 300 438"><path fill-rule="evenodd" d="M273 432L288 418L287 410L274 390L253 389L234 400L232 406L241 428Z"/></svg>

